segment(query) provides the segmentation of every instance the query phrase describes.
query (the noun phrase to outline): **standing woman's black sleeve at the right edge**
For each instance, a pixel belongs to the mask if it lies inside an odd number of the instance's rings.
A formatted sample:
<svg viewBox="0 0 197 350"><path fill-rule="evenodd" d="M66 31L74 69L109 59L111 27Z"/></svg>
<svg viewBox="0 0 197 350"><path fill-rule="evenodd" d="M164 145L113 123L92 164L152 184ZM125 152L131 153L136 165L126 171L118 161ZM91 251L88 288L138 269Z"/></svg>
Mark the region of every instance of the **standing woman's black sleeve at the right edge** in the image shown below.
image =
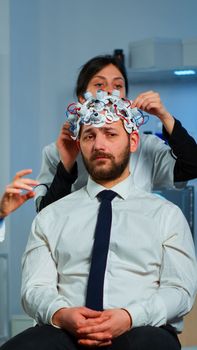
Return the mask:
<svg viewBox="0 0 197 350"><path fill-rule="evenodd" d="M172 134L163 129L164 138L172 149L176 159L174 167L174 181L188 181L197 177L197 143L191 137L180 121L175 119Z"/></svg>

